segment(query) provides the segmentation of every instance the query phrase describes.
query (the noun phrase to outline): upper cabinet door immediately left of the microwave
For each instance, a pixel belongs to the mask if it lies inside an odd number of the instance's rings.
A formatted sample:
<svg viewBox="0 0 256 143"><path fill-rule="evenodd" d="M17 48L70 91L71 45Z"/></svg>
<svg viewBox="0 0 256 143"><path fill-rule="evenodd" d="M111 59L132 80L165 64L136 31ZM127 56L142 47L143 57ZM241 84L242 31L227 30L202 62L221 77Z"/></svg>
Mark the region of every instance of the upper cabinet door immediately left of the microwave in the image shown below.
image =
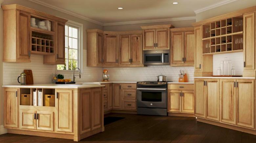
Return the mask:
<svg viewBox="0 0 256 143"><path fill-rule="evenodd" d="M131 63L142 64L142 35L131 35Z"/></svg>

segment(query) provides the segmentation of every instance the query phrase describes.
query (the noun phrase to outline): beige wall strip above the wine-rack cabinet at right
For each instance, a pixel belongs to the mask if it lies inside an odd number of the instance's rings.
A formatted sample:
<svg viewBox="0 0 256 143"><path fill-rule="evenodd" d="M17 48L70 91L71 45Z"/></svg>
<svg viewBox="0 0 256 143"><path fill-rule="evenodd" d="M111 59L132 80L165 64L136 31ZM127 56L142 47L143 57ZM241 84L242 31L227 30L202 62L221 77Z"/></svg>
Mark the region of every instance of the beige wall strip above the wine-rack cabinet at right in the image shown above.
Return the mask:
<svg viewBox="0 0 256 143"><path fill-rule="evenodd" d="M245 9L248 7L256 6L256 0L238 0L211 10L206 10L196 14L196 21L202 21L207 18L226 14L236 10Z"/></svg>

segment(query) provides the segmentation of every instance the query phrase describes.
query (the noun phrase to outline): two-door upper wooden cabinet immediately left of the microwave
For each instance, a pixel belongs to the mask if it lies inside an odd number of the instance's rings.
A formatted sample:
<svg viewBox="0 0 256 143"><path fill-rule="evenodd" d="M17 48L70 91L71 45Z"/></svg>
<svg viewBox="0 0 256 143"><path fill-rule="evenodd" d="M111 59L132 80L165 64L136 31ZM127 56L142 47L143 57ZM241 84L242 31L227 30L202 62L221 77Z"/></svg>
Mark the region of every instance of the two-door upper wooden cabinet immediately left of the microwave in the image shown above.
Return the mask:
<svg viewBox="0 0 256 143"><path fill-rule="evenodd" d="M142 64L142 35L120 35L120 65Z"/></svg>

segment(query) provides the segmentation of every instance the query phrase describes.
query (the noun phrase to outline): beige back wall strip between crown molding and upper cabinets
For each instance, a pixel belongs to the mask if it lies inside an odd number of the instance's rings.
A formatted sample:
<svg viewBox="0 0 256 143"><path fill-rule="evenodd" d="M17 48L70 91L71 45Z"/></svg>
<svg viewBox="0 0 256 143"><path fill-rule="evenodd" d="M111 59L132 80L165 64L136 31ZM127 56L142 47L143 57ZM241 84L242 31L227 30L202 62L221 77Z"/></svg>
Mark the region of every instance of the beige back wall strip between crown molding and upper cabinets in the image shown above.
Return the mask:
<svg viewBox="0 0 256 143"><path fill-rule="evenodd" d="M196 20L181 20L181 21L114 25L114 26L104 26L103 30L104 31L134 31L134 30L141 30L140 26L161 25L161 24L172 24L175 28L192 27L191 23L193 23L193 22L196 22Z"/></svg>

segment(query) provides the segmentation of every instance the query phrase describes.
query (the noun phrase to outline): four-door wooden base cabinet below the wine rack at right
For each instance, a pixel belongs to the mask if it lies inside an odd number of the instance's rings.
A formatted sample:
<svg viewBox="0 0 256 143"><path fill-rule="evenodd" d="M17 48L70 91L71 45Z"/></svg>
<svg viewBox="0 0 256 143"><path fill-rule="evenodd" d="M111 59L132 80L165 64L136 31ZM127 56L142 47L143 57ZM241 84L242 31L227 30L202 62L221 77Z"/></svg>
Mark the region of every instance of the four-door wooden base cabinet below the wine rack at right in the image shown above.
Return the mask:
<svg viewBox="0 0 256 143"><path fill-rule="evenodd" d="M195 116L255 130L255 79L195 79Z"/></svg>

